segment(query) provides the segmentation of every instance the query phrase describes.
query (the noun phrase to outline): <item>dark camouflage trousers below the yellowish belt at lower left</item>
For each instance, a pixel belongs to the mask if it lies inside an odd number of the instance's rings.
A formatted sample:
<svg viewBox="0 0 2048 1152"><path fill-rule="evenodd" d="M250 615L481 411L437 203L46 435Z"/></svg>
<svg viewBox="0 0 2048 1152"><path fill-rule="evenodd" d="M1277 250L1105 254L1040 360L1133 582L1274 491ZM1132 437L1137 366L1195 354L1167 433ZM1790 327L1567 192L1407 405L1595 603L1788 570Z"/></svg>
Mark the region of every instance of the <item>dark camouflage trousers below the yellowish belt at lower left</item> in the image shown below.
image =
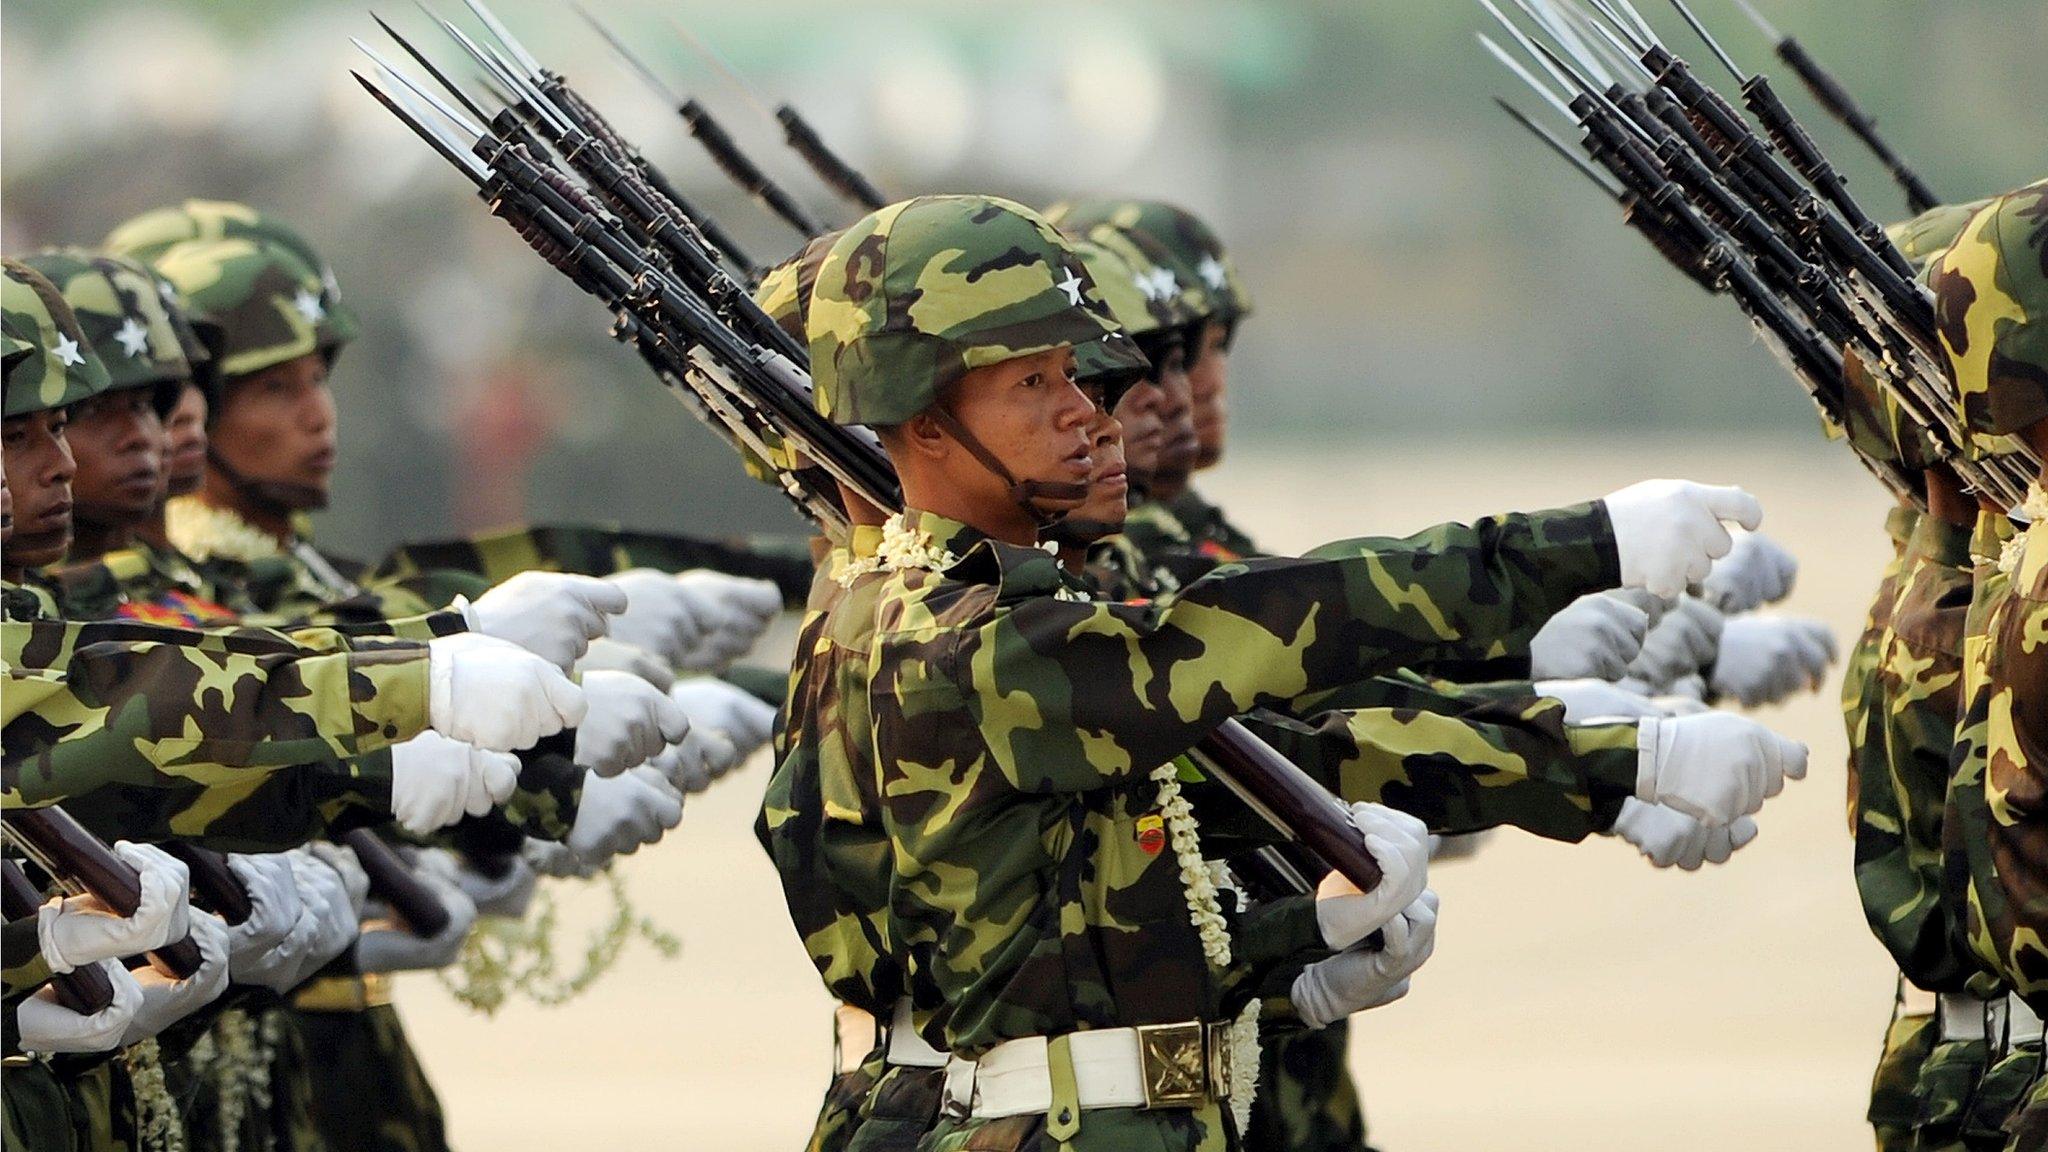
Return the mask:
<svg viewBox="0 0 2048 1152"><path fill-rule="evenodd" d="M440 1099L426 1082L397 1009L291 1009L305 1050L313 1123L334 1152L449 1152Z"/></svg>

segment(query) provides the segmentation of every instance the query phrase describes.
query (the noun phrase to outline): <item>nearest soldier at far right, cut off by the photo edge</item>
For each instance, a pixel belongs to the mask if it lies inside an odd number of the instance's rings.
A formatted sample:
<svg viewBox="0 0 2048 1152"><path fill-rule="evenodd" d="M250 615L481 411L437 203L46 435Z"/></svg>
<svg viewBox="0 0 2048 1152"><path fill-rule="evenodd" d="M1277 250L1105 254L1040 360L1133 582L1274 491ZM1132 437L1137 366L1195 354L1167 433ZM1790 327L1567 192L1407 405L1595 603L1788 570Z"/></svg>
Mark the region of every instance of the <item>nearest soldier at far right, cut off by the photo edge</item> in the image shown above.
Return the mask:
<svg viewBox="0 0 2048 1152"><path fill-rule="evenodd" d="M2048 449L2048 180L1991 201L1931 273L1942 344L1960 396L1964 426L1982 451ZM1995 1054L1985 1074L1978 1129L1999 1125L2007 1148L2048 1142L2048 1088L2040 1082L2042 1025L2048 1013L2048 853L2038 765L2048 738L2048 496L2042 478L2015 510L2023 531L2009 535L1976 570L1962 658L1962 722L1956 738L1952 797L1944 828L1960 847L1966 871L1964 933L1989 972L2013 990L2005 1002ZM2023 1105L2021 1105L2023 1101ZM1995 1109L2005 1109L2001 1115ZM1964 1138L1970 1140L1968 1127ZM1982 1146L1991 1132L1978 1138Z"/></svg>

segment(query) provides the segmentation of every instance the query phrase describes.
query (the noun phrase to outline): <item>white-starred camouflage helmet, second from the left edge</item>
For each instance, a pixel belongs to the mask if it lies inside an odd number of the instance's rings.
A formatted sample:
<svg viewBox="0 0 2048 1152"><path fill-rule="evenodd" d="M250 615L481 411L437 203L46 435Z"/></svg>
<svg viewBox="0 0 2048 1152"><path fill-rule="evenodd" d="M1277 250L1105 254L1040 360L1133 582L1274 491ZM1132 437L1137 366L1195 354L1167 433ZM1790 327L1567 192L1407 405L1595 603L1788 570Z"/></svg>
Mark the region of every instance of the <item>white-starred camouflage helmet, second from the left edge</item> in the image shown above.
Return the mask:
<svg viewBox="0 0 2048 1152"><path fill-rule="evenodd" d="M49 248L23 260L57 285L106 367L109 389L147 387L158 414L178 404L193 365L147 266L84 248Z"/></svg>

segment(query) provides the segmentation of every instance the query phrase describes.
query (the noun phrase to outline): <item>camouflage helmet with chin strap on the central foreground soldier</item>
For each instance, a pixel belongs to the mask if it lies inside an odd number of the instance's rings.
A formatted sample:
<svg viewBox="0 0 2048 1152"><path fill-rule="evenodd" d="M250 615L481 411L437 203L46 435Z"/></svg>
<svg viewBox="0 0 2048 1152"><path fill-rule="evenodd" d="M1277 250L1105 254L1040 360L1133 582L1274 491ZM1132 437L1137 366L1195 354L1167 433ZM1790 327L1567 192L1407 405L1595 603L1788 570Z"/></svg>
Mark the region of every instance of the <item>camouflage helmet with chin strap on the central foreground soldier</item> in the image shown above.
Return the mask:
<svg viewBox="0 0 2048 1152"><path fill-rule="evenodd" d="M840 424L901 424L973 369L1069 344L1145 363L1067 240L997 197L862 217L825 252L805 330L817 408Z"/></svg>

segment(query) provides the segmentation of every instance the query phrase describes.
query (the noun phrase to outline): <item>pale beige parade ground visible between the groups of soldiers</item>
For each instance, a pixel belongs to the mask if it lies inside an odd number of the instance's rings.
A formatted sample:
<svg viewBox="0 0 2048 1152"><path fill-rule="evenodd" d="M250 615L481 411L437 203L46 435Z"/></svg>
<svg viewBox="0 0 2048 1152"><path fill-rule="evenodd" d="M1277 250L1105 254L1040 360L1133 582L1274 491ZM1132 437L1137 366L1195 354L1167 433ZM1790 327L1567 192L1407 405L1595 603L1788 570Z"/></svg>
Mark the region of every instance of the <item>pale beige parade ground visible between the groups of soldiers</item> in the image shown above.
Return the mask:
<svg viewBox="0 0 2048 1152"><path fill-rule="evenodd" d="M1247 447L1202 490L1266 547L1292 551L1565 504L1651 476L1749 486L1765 531L1800 558L1784 607L1853 642L1884 562L1884 496L1819 433L1438 451L1368 435L1356 449ZM788 629L774 640L782 656ZM1436 959L1407 1000L1354 1025L1374 1144L1870 1148L1862 1115L1892 970L1849 877L1837 689L1839 668L1821 693L1759 713L1812 746L1812 771L1726 867L1655 871L1622 842L1503 832L1477 859L1438 869ZM459 1148L803 1146L829 1074L829 1002L754 842L766 777L762 752L690 801L684 834L621 865L643 910L682 937L678 959L641 945L573 1009L510 1006L496 1019L451 1000L432 976L399 978ZM584 929L573 920L563 935L563 963Z"/></svg>

